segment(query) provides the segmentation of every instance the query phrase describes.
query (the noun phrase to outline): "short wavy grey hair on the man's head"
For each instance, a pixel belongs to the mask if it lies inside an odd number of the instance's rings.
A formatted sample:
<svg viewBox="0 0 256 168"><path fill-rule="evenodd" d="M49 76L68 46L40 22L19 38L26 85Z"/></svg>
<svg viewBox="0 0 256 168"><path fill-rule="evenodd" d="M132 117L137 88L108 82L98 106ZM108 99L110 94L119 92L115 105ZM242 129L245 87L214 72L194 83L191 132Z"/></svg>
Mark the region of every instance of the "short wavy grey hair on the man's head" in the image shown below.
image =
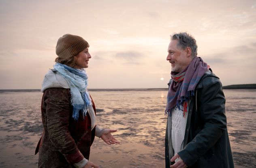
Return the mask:
<svg viewBox="0 0 256 168"><path fill-rule="evenodd" d="M190 47L191 55L193 57L197 56L196 40L190 34L186 32L175 33L171 35L171 40L178 40L177 46L181 47L182 49L186 49L186 47Z"/></svg>

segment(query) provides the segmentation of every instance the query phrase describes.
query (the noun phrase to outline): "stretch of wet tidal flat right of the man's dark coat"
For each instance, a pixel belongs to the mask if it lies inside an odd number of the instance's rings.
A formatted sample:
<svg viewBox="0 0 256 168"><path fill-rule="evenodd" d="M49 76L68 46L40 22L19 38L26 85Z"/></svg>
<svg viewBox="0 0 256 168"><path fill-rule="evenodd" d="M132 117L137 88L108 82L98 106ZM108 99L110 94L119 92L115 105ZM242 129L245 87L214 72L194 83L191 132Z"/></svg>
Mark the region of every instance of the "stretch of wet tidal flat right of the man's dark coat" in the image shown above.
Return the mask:
<svg viewBox="0 0 256 168"><path fill-rule="evenodd" d="M228 133L235 167L256 167L256 89L225 89Z"/></svg>

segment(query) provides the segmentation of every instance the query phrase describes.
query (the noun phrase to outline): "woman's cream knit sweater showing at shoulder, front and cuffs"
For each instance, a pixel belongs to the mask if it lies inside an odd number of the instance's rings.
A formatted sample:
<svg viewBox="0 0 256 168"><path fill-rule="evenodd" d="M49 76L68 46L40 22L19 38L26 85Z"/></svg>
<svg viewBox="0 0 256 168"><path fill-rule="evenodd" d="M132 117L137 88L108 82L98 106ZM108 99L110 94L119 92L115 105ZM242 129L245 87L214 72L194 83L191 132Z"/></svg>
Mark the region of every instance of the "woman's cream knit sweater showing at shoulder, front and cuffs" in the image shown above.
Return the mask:
<svg viewBox="0 0 256 168"><path fill-rule="evenodd" d="M69 85L68 85L68 82L66 81L66 79L64 77L62 77L61 75L53 72L52 70L49 70L47 72L47 74L45 74L45 78L43 80L41 91L44 92L46 89L52 88L52 87L68 89ZM94 109L93 109L92 105L89 106L88 113L89 113L90 118L91 118L92 129L93 129L96 126L96 116L95 116ZM104 129L100 128L97 125L96 130L95 130L95 136L100 138L102 136L103 131L104 131ZM85 164L87 164L87 162L88 162L88 160L84 158L80 162L75 163L74 166L76 168L83 168L85 166Z"/></svg>

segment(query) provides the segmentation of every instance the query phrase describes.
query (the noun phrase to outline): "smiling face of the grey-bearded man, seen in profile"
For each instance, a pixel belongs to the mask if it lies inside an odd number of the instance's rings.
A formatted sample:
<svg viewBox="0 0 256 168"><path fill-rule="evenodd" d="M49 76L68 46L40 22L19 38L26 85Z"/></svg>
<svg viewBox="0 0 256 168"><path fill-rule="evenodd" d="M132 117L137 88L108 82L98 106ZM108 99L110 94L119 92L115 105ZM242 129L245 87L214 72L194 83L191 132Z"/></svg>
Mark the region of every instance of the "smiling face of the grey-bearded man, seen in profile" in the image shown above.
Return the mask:
<svg viewBox="0 0 256 168"><path fill-rule="evenodd" d="M171 63L171 70L173 72L181 72L190 63L186 49L177 47L177 43L178 40L171 40L168 46L168 55L166 57L166 60Z"/></svg>

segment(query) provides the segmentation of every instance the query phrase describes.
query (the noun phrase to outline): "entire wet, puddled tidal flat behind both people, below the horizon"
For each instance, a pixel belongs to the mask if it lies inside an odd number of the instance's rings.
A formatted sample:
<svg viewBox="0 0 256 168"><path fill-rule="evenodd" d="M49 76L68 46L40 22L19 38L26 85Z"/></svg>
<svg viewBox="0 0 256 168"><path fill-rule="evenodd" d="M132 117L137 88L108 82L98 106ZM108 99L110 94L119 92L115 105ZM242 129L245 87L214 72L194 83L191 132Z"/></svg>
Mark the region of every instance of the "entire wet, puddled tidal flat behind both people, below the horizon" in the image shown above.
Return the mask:
<svg viewBox="0 0 256 168"><path fill-rule="evenodd" d="M90 161L101 168L164 168L166 90L90 91L97 122L120 145L95 138ZM224 90L235 167L256 167L256 89ZM36 168L42 93L0 93L0 167Z"/></svg>

